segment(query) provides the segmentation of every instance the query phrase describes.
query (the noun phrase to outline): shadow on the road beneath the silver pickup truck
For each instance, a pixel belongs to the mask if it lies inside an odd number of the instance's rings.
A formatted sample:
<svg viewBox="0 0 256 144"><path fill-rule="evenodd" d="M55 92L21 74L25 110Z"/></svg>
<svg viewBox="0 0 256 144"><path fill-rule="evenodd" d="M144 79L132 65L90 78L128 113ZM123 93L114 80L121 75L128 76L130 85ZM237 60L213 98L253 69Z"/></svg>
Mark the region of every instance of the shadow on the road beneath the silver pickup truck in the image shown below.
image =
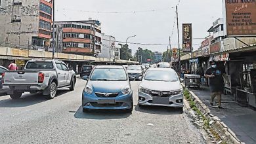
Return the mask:
<svg viewBox="0 0 256 144"><path fill-rule="evenodd" d="M66 94L68 90L59 90L56 97ZM35 105L43 101L49 100L47 96L43 96L41 93L36 94L23 94L20 99L4 99L0 101L0 107L26 107L29 105Z"/></svg>

